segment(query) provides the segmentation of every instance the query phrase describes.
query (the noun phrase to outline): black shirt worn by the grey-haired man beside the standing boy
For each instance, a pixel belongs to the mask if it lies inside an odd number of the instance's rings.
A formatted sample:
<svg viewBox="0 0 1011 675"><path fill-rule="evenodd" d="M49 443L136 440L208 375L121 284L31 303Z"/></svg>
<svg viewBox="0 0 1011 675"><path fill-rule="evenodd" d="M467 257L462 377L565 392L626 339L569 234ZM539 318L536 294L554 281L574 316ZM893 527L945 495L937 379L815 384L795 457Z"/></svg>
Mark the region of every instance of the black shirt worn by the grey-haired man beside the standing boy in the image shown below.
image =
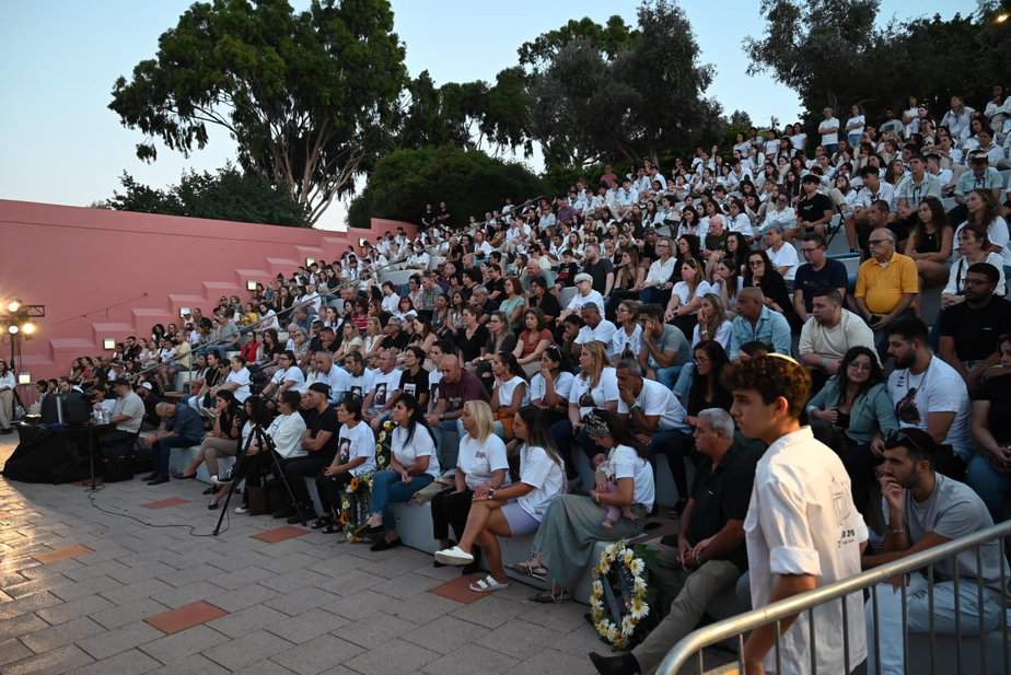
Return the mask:
<svg viewBox="0 0 1011 675"><path fill-rule="evenodd" d="M713 470L712 463L705 459L699 464L692 482L692 522L686 534L693 545L720 532L727 521L743 521L752 498L755 482L755 465L760 453L755 453L734 443L720 465ZM741 542L733 550L719 556L744 571L747 569L747 549Z"/></svg>

